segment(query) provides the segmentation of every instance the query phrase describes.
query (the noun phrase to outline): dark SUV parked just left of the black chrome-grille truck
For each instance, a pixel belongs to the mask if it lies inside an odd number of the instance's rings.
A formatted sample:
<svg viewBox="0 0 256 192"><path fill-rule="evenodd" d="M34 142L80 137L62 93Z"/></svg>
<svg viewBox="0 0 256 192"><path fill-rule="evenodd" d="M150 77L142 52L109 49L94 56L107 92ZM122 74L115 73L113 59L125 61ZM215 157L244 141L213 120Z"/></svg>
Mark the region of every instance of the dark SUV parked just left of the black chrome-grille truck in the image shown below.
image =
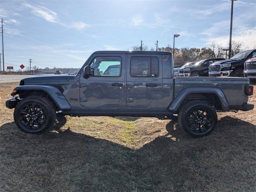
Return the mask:
<svg viewBox="0 0 256 192"><path fill-rule="evenodd" d="M179 70L179 76L185 76L185 77L208 76L209 65L220 60L225 60L225 59L224 58L204 59L196 62L192 66L181 67Z"/></svg>

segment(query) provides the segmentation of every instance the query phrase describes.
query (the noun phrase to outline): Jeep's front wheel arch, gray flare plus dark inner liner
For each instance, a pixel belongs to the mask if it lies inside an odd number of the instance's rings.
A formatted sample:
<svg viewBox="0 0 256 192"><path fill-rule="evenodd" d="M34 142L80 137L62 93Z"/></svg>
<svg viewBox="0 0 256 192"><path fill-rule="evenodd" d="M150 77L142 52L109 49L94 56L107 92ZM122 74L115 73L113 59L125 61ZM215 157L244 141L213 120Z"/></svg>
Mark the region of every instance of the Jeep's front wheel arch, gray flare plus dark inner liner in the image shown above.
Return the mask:
<svg viewBox="0 0 256 192"><path fill-rule="evenodd" d="M16 94L21 97L40 95L48 97L59 110L70 110L71 106L62 94L62 92L55 86L48 85L22 85L14 88Z"/></svg>

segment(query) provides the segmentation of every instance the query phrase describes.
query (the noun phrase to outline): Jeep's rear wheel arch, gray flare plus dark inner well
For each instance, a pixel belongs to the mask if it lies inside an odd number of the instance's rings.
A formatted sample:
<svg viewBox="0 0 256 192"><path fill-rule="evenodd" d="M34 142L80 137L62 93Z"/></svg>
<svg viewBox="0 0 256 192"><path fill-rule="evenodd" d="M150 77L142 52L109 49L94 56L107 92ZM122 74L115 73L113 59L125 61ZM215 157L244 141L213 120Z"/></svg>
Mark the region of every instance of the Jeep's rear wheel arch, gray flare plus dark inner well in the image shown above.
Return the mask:
<svg viewBox="0 0 256 192"><path fill-rule="evenodd" d="M178 112L190 100L206 100L215 106L216 110L229 111L226 96L219 88L193 87L183 89L171 102L168 109Z"/></svg>

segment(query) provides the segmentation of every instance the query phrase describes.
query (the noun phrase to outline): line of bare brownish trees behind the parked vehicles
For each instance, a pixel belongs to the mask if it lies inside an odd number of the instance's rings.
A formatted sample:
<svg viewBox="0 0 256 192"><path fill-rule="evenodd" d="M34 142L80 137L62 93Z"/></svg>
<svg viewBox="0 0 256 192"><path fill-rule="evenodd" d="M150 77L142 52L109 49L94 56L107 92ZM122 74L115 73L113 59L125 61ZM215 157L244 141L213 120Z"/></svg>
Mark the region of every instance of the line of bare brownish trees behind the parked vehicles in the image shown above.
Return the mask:
<svg viewBox="0 0 256 192"><path fill-rule="evenodd" d="M140 46L133 46L132 50L139 51ZM155 51L155 48L148 48L147 46L142 46L142 51ZM244 44L240 41L232 41L231 56L246 50ZM167 47L160 47L158 51L168 51L173 52L173 48L168 45ZM227 54L227 55L226 55ZM228 51L216 43L212 42L208 46L203 48L175 48L174 53L174 65L183 65L187 62L196 62L202 59L208 58L226 58L228 57Z"/></svg>

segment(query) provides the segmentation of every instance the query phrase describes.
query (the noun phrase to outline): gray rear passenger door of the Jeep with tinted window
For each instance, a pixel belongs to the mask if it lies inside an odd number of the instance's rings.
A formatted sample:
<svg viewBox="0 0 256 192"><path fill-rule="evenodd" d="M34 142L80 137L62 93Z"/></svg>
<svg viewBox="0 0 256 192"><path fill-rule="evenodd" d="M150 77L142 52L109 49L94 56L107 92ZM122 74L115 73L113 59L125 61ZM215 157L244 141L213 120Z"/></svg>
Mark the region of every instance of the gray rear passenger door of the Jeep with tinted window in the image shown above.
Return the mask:
<svg viewBox="0 0 256 192"><path fill-rule="evenodd" d="M162 89L161 54L127 54L126 106L147 108Z"/></svg>

